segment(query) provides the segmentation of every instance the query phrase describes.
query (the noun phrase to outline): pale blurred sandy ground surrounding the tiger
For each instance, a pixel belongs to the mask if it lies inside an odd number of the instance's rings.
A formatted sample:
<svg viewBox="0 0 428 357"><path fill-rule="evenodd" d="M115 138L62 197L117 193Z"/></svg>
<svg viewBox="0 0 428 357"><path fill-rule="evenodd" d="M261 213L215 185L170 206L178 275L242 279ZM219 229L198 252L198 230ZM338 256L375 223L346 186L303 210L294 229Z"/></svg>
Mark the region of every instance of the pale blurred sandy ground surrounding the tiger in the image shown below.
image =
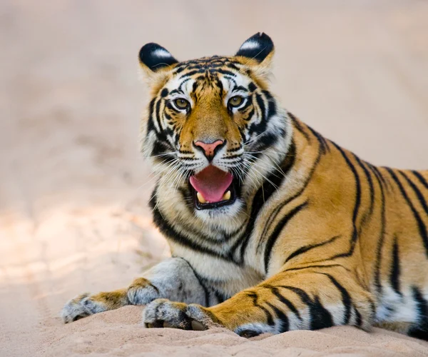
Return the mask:
<svg viewBox="0 0 428 357"><path fill-rule="evenodd" d="M379 329L245 340L144 329L134 306L58 318L168 256L137 149L143 44L190 59L265 31L288 109L374 164L427 169L427 19L427 1L0 1L0 355L428 356Z"/></svg>

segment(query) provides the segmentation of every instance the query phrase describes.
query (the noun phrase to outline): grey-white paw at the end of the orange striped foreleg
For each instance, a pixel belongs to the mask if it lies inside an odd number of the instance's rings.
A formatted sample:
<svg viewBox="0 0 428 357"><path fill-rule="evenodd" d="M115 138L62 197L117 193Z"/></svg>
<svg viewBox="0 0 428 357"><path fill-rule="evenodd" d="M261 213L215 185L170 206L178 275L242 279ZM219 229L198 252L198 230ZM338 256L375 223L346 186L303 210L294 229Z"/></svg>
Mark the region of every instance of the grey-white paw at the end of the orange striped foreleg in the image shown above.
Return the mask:
<svg viewBox="0 0 428 357"><path fill-rule="evenodd" d="M206 308L195 303L176 303L158 298L146 306L143 322L148 328L170 327L202 331L222 327Z"/></svg>

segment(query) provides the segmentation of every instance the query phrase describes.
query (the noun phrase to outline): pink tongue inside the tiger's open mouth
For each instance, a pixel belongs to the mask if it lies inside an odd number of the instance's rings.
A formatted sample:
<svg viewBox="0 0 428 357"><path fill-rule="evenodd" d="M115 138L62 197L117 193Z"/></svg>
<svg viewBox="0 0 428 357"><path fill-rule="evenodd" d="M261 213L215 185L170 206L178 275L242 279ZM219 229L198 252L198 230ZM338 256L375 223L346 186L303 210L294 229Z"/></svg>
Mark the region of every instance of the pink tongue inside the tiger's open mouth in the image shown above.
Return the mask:
<svg viewBox="0 0 428 357"><path fill-rule="evenodd" d="M190 176L190 184L210 203L221 201L232 180L232 174L211 165L199 174Z"/></svg>

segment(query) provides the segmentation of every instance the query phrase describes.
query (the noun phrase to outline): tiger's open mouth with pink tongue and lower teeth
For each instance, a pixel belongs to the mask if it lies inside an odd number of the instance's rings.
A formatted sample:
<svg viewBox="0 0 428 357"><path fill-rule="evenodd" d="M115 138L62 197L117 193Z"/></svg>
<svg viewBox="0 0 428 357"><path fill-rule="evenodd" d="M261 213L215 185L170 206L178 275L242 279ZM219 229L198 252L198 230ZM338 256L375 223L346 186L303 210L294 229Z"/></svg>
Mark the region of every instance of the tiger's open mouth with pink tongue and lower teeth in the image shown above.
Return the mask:
<svg viewBox="0 0 428 357"><path fill-rule="evenodd" d="M189 183L196 209L218 208L235 202L233 175L215 166L210 165L190 176Z"/></svg>

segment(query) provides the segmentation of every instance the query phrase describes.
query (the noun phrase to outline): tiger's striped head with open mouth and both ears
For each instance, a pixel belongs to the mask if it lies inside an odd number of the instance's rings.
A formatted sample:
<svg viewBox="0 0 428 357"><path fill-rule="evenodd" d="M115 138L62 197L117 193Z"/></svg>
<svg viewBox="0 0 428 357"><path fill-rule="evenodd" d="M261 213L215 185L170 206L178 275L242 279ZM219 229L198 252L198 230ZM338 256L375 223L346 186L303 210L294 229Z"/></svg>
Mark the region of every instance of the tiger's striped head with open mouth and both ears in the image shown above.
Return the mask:
<svg viewBox="0 0 428 357"><path fill-rule="evenodd" d="M235 56L177 61L158 44L139 53L151 101L141 149L163 199L203 221L234 216L284 159L287 114L268 90L274 46L255 34Z"/></svg>

